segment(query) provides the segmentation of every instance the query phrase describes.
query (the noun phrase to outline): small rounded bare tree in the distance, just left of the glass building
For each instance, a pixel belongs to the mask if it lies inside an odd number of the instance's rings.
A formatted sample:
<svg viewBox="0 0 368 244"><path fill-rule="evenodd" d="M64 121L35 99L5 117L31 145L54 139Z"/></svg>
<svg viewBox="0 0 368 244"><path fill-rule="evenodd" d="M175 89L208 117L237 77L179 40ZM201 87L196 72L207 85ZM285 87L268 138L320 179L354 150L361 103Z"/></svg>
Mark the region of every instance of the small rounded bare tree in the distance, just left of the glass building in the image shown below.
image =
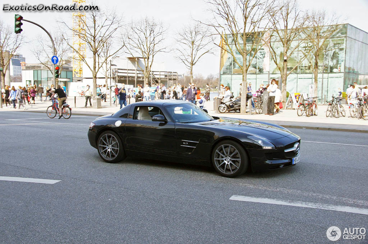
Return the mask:
<svg viewBox="0 0 368 244"><path fill-rule="evenodd" d="M208 26L200 23L188 24L175 34L178 47L177 56L190 72L190 81L193 82L193 66L205 54L213 54L213 37Z"/></svg>

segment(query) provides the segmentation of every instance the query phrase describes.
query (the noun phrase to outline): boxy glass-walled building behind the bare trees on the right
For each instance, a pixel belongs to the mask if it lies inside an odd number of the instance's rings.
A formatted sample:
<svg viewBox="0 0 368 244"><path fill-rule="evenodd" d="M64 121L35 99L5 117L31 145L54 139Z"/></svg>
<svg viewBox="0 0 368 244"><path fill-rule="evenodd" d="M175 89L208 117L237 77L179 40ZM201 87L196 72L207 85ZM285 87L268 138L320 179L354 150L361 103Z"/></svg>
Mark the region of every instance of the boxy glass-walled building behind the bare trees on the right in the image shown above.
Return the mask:
<svg viewBox="0 0 368 244"><path fill-rule="evenodd" d="M328 26L326 26L328 28ZM231 35L227 38L230 40ZM283 47L280 40L271 40L272 46L279 57L283 59ZM294 52L288 59L288 71L293 69L302 58L303 48L308 48L308 43L303 44L298 51ZM336 95L338 88L346 91L349 84L357 82L359 85L368 85L368 33L355 28L350 24L339 25L339 30L328 39L326 51L319 55L318 73L318 96L330 98ZM266 47L265 47L266 49ZM279 69L270 60L265 49L257 52L248 69L247 81L252 83L252 90L258 90L261 83L268 84L269 66L270 79L281 81ZM242 57L236 53L238 62L242 63ZM233 57L226 52L221 57L220 83L228 85L234 95L240 90L242 74ZM309 93L309 85L314 84L313 56L307 57L287 77L286 90L292 92ZM312 64L311 64L312 63ZM279 82L281 84L281 82Z"/></svg>

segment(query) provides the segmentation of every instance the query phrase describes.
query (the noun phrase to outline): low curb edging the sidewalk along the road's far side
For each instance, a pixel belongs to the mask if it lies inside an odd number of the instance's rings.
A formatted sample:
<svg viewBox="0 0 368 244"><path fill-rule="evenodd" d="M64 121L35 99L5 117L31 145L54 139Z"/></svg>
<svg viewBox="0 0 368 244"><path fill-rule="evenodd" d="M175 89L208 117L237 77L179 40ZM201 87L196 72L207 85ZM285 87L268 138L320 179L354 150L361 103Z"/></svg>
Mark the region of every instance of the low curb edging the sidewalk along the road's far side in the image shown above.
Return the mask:
<svg viewBox="0 0 368 244"><path fill-rule="evenodd" d="M33 110L33 111L31 111L31 110L20 110L20 111L12 111L12 112L46 113L45 111L41 111L41 110ZM83 112L83 111L73 112L73 110L72 110L72 115L73 114L77 114L77 115L89 115L89 116L104 116L104 115L112 114L112 113L106 113L106 112ZM262 122L263 120L258 120L258 121ZM272 121L265 121L265 122L272 123ZM281 121L276 121L276 122L280 122L280 123L273 122L273 124L277 124L277 125L280 125L280 126L285 127L285 128L296 128L296 129L306 129L306 130L346 131L346 132L362 132L362 133L368 133L368 130L361 130L361 129L331 128L331 127L311 126L311 125L289 125L289 124L283 124Z"/></svg>

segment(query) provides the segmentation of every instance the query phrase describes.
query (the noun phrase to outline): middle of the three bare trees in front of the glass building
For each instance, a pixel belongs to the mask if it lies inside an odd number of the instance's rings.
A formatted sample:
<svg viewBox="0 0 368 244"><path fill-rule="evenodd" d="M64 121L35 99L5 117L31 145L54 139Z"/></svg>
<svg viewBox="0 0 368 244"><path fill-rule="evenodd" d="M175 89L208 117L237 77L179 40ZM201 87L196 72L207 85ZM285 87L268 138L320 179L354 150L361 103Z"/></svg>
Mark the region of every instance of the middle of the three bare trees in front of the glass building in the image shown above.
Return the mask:
<svg viewBox="0 0 368 244"><path fill-rule="evenodd" d="M288 67L288 60L295 56L300 51L301 45L305 43L302 33L308 28L307 17L300 10L297 0L280 0L279 5L270 8L268 13L272 28L269 42L270 56L281 73L282 101L285 101L287 77L308 56L307 52L303 52L304 55L299 57L298 62L293 65L289 63L291 67Z"/></svg>

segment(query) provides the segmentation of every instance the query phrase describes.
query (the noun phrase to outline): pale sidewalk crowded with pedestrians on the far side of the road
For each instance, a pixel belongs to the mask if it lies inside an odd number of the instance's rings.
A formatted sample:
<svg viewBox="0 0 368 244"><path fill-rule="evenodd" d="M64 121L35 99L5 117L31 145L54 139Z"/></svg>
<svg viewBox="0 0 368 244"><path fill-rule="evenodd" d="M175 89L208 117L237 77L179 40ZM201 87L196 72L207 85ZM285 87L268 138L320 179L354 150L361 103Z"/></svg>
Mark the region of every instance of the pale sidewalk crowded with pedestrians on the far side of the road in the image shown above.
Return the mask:
<svg viewBox="0 0 368 244"><path fill-rule="evenodd" d="M69 97L67 102L72 109L72 114L82 114L82 115L95 115L102 116L110 113L115 113L120 109L120 105L113 105L110 107L110 100L106 99L107 102L101 102L102 108L95 109L89 106L84 107L85 98L77 97L76 98L76 108L74 104L74 97ZM134 99L131 99L131 103L134 102ZM13 108L5 108L3 105L3 109L1 111L14 111L14 112L46 112L48 106L52 103L50 101L40 102L36 101L35 105L26 105L26 110L22 109L13 109ZM265 115L265 114L240 114L234 112L227 113L216 113L213 109L213 101L205 102L205 109L208 110L209 114L212 116L222 116L222 117L234 117L240 119L249 119L249 120L258 120L265 121L269 123L274 123L278 125L282 125L284 127L289 128L306 128L306 129L318 129L318 130L333 130L333 131L351 131L351 132L368 132L368 120L362 120L357 118L350 118L350 113L346 105L344 108L346 110L346 117L340 118L331 118L326 117L326 105L318 106L318 116L306 117L297 116L297 111L295 109L287 109L280 110L279 113L275 113L273 116ZM247 110L248 112L248 110ZM0 113L1 114L1 113Z"/></svg>

